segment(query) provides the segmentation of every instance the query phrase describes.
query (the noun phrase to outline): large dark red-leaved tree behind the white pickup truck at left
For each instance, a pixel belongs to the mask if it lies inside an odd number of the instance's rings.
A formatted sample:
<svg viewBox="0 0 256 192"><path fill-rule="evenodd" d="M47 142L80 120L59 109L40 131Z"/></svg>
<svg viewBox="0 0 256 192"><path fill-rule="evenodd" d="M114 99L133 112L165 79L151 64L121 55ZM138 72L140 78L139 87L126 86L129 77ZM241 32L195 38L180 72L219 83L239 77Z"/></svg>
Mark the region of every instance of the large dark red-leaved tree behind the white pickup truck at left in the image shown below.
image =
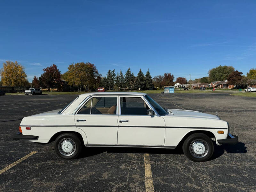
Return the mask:
<svg viewBox="0 0 256 192"><path fill-rule="evenodd" d="M47 88L50 91L50 88L61 89L60 82L60 71L57 68L57 65L52 64L50 67L43 69L44 73L39 77L39 81L42 83L43 88Z"/></svg>

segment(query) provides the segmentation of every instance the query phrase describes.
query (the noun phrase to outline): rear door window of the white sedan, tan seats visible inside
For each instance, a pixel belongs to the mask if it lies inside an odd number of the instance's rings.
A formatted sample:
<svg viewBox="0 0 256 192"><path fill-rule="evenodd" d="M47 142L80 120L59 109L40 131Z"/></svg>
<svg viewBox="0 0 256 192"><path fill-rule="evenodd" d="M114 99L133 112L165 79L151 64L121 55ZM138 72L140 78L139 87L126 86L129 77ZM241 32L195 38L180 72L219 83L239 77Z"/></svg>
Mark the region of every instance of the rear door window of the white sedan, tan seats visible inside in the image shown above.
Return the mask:
<svg viewBox="0 0 256 192"><path fill-rule="evenodd" d="M117 97L93 97L77 114L116 115Z"/></svg>

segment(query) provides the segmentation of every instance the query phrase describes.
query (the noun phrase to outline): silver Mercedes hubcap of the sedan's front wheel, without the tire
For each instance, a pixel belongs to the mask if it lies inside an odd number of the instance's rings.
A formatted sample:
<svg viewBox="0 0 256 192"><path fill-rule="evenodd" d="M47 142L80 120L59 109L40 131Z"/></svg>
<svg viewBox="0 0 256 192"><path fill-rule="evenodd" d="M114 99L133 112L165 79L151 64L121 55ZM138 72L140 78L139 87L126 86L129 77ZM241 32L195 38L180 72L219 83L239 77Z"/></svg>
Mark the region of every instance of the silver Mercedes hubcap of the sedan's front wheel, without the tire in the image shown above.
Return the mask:
<svg viewBox="0 0 256 192"><path fill-rule="evenodd" d="M189 151L196 158L203 158L208 154L209 146L201 139L193 140L189 146Z"/></svg>

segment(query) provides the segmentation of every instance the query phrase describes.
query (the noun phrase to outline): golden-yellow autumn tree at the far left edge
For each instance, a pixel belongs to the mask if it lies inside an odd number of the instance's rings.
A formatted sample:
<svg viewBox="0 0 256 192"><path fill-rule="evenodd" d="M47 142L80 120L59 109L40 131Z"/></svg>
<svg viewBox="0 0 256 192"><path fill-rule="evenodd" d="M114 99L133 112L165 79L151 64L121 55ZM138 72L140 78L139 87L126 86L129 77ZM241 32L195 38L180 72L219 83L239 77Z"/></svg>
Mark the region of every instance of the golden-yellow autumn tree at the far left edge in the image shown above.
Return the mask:
<svg viewBox="0 0 256 192"><path fill-rule="evenodd" d="M24 67L17 61L5 61L0 76L2 86L30 86Z"/></svg>

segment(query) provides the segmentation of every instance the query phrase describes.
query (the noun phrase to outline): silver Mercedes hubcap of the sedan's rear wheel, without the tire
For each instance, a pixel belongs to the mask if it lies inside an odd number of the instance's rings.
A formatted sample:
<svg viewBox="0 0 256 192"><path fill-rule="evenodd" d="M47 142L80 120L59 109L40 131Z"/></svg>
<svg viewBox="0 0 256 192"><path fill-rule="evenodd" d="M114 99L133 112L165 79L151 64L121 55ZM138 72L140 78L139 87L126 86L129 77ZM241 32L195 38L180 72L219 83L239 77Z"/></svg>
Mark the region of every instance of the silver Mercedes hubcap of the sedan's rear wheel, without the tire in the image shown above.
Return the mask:
<svg viewBox="0 0 256 192"><path fill-rule="evenodd" d="M59 142L59 151L64 156L71 156L76 152L76 143L70 138L64 138Z"/></svg>

